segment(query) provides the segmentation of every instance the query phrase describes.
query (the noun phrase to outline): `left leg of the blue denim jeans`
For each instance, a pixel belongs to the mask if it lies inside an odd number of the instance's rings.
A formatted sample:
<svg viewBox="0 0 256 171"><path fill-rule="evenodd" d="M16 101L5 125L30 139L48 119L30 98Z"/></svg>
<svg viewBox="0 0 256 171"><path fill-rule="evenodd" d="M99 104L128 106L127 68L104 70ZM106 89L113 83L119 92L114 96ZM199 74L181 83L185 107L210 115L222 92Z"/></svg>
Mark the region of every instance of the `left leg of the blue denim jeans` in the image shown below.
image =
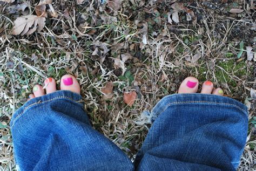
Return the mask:
<svg viewBox="0 0 256 171"><path fill-rule="evenodd" d="M57 91L16 111L11 131L20 170L133 170L130 159L91 127L81 100Z"/></svg>

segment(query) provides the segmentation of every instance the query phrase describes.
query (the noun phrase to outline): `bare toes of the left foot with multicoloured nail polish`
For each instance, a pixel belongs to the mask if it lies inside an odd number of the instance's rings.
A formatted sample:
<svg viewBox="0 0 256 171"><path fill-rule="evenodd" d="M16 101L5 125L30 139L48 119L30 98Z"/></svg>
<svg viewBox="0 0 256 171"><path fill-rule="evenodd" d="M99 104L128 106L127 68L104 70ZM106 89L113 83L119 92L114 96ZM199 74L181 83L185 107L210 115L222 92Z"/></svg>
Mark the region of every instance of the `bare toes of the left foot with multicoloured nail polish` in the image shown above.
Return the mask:
<svg viewBox="0 0 256 171"><path fill-rule="evenodd" d="M43 89L43 86L35 85L33 87L33 94L29 94L29 100L35 97L41 97L42 95L50 94L57 91L56 81L53 78L47 78L44 81L44 86L46 93ZM80 85L74 76L67 74L63 76L60 81L60 90L68 90L80 94Z"/></svg>

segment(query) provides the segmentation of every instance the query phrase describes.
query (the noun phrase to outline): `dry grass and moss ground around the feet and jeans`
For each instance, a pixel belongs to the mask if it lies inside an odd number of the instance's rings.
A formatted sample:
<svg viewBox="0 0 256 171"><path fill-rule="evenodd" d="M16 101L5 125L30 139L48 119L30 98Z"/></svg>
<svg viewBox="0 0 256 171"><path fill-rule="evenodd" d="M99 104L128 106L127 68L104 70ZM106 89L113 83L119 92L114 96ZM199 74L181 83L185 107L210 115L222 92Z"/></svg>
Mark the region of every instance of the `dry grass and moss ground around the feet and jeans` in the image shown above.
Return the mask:
<svg viewBox="0 0 256 171"><path fill-rule="evenodd" d="M27 3L20 3L23 2ZM150 127L136 124L142 119L141 113L151 110L165 95L177 93L180 82L187 76L197 77L200 83L211 80L215 87L223 88L228 97L241 102L249 99L253 103L250 99L250 88L255 83L253 64L246 61L245 52L241 60L237 59L241 40L245 46L252 45L252 40L232 35L234 29L243 30L253 23L249 16L239 18L229 16L228 12L219 15L196 3L197 25L187 22L185 13L179 13L180 23L170 24L167 11L172 3L123 5L122 10L114 13L97 1L80 6L73 6L76 1L53 2L58 18L49 15L41 32L23 37L10 33L12 22L24 14L10 15L6 8L0 8L0 30L7 26L0 31L0 170L15 169L9 127L12 113L25 103L31 87L42 84L46 77L59 80L65 73L76 76L93 127L132 160ZM128 3L123 1L123 4ZM62 6L68 7L68 16ZM227 8L232 6L233 3L228 3ZM105 23L104 17L110 20ZM142 42L142 23L148 24L147 44ZM218 25L223 26L224 32L218 30ZM85 26L90 28L84 29ZM104 48L109 52L104 54ZM98 53L93 55L96 50ZM133 58L126 61L122 75L122 69L114 65L113 59L124 53L132 54ZM201 54L196 63L187 60L186 57L196 53ZM32 60L33 54L37 60ZM113 99L105 101L99 90L108 81L113 81L114 95ZM134 88L139 88L141 95L129 107L123 102L123 92ZM250 120L254 112L250 110ZM248 134L251 130L250 127ZM251 168L251 159L256 160L255 146L255 136L251 134L240 168Z"/></svg>

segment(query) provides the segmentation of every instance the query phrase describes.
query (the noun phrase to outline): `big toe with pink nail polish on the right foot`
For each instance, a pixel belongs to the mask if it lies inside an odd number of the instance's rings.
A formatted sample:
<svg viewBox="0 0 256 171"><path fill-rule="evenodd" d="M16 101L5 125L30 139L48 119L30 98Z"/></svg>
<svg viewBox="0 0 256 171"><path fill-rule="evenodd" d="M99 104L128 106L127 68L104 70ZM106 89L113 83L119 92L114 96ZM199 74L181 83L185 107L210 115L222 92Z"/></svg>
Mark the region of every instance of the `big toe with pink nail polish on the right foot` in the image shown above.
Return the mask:
<svg viewBox="0 0 256 171"><path fill-rule="evenodd" d="M194 77L187 77L180 85L178 93L196 93L198 80Z"/></svg>

